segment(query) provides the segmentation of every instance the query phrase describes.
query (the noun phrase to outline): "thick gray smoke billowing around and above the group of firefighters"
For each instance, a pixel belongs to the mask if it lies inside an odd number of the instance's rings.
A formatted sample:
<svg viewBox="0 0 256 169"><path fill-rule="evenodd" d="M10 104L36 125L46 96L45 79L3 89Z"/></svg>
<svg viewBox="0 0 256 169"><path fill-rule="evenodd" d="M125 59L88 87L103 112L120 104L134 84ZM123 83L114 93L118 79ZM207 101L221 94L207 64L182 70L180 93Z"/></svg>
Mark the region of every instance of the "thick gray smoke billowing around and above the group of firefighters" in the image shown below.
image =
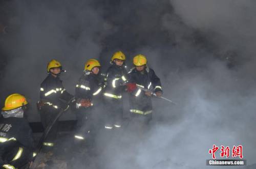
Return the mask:
<svg viewBox="0 0 256 169"><path fill-rule="evenodd" d="M134 55L146 55L164 97L178 103L154 98L152 126L143 134L130 128L100 133L101 153L87 157L88 168L211 168L205 162L213 144L243 145L247 164L255 163L254 1L13 5L17 11L9 22L19 29L1 43L8 54L1 93L15 89L35 104L52 58L68 70L61 78L74 93L87 59L100 59L105 70L120 49L130 67Z"/></svg>

